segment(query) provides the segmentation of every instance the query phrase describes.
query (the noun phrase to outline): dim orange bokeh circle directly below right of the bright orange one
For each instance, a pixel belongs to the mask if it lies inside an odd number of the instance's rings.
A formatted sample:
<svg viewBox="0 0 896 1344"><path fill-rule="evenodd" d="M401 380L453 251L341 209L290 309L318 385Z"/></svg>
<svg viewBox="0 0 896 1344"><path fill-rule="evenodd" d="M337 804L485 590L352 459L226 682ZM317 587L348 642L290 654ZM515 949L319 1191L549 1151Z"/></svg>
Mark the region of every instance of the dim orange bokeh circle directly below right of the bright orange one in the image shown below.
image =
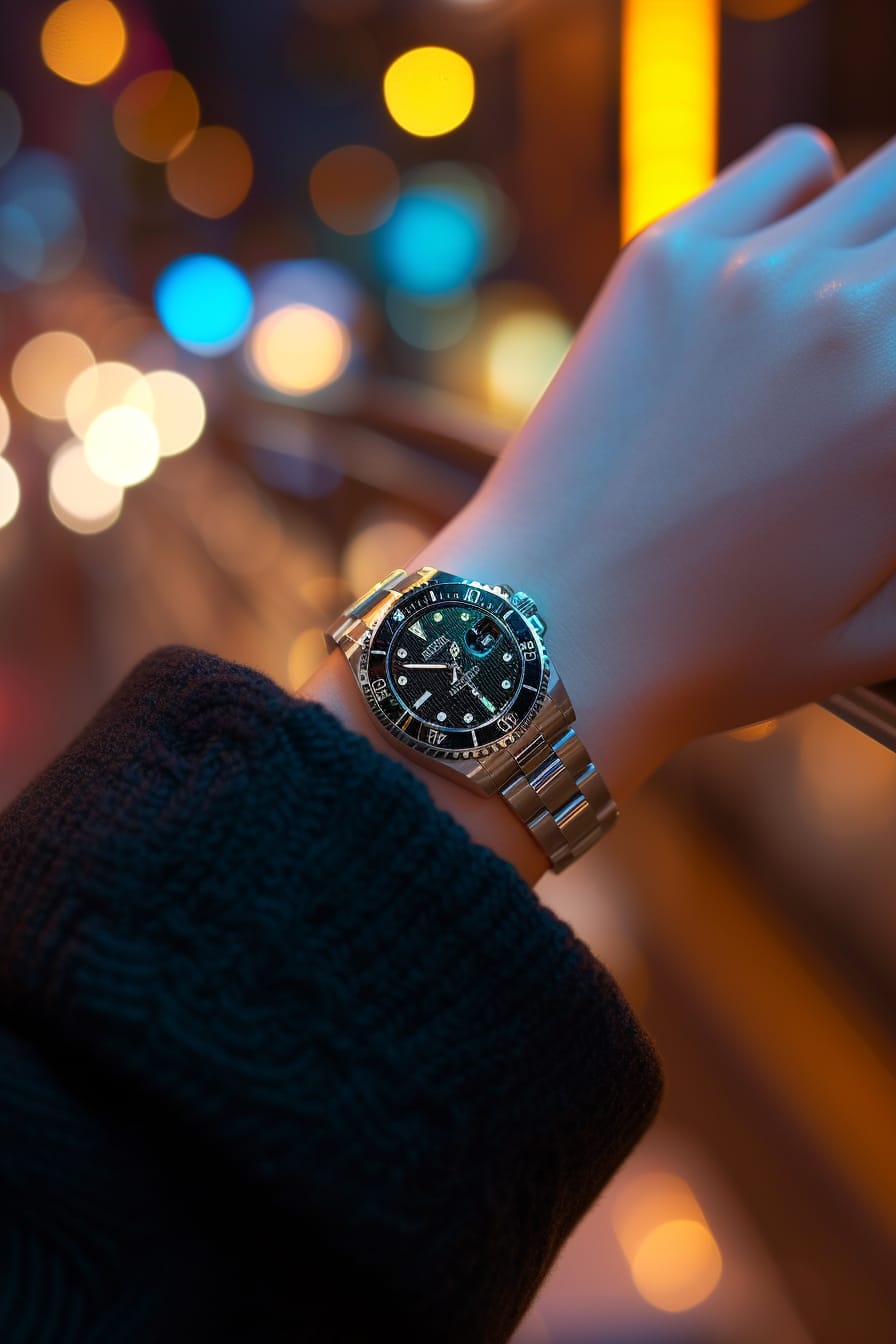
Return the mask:
<svg viewBox="0 0 896 1344"><path fill-rule="evenodd" d="M167 163L196 134L199 98L179 71L150 70L121 91L113 121L120 142L132 155Z"/></svg>

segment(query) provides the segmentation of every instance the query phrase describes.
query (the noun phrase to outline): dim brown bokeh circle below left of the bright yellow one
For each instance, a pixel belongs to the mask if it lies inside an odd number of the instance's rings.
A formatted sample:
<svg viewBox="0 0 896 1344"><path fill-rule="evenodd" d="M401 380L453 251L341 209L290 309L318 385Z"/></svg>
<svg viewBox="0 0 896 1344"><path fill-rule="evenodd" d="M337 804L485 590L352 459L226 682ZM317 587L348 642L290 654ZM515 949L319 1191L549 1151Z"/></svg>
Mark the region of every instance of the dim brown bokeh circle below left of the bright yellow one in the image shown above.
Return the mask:
<svg viewBox="0 0 896 1344"><path fill-rule="evenodd" d="M309 192L318 218L336 233L365 234L395 208L398 168L382 149L343 145L314 164Z"/></svg>

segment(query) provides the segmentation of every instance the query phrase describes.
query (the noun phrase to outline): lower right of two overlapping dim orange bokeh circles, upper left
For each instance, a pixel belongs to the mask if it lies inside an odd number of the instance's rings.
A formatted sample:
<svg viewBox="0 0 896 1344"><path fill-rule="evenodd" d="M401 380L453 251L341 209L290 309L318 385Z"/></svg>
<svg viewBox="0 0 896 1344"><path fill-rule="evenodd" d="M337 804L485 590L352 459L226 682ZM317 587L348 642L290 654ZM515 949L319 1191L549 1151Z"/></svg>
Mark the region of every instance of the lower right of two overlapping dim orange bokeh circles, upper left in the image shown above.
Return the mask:
<svg viewBox="0 0 896 1344"><path fill-rule="evenodd" d="M222 219L246 200L253 184L253 156L238 130L200 126L165 165L173 199L207 219Z"/></svg>

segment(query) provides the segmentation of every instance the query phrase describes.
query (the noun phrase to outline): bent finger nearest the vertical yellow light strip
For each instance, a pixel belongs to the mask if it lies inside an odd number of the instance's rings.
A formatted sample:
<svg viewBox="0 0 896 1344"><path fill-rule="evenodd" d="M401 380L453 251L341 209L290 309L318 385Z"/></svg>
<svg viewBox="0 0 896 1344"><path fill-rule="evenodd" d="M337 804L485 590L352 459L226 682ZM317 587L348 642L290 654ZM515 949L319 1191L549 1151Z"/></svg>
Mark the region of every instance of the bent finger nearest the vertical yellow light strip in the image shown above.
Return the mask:
<svg viewBox="0 0 896 1344"><path fill-rule="evenodd" d="M802 122L782 126L735 160L688 207L724 237L776 223L838 181L844 168L830 136Z"/></svg>

